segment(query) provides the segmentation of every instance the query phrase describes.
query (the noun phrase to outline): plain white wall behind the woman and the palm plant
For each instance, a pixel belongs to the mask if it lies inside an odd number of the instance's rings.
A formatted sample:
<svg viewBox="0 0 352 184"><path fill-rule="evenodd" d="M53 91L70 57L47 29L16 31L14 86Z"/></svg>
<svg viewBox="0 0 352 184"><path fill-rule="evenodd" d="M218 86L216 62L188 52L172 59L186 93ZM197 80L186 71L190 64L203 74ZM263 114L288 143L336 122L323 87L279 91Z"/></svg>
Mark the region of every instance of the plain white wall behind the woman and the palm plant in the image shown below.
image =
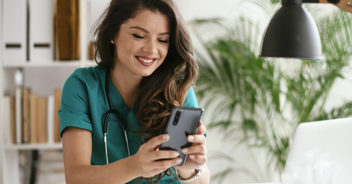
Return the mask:
<svg viewBox="0 0 352 184"><path fill-rule="evenodd" d="M267 22L270 19L263 18L263 12L258 11L258 8L245 3L241 0L175 0L178 5L181 14L187 22L190 22L194 19L204 19L204 18L216 18L222 17L228 20L228 22L235 24L235 20L239 17L240 14L245 14L250 16L254 20L261 20L262 22ZM247 1L248 2L248 1ZM322 8L321 15L326 13L331 13L336 10L332 5L309 5L310 7ZM193 39L194 48L200 50L200 43L197 41L194 32L189 26L191 36ZM205 33L204 36L206 39L212 39L214 36L220 36L222 32L219 30L209 28L201 29L199 32ZM259 50L258 50L259 53ZM285 64L284 64L285 65ZM290 72L290 68L287 67L287 71ZM346 72L346 77L348 80L337 80L329 94L329 98L326 102L326 109L331 109L332 107L338 107L342 102L347 100L352 100L352 73ZM204 103L199 104L200 107L205 105ZM209 122L209 115L212 112L210 109L205 109L205 115L202 118L202 121L205 124ZM266 155L262 150L258 149L248 149L246 146L240 146L238 148L233 148L233 143L224 142L222 140L221 132L215 129L207 130L208 136L208 157L211 157L214 154L214 151L223 151L236 160L236 163L230 163L227 161L219 161L214 158L210 158L208 161L208 167L212 176L216 172L226 169L228 166L234 167L245 167L258 176L259 182L276 182L279 181L279 176L268 176L264 171L266 170ZM254 161L254 162L253 162ZM257 161L257 164L255 164ZM226 184L235 184L235 183L256 183L258 181L254 180L253 177L244 174L243 172L238 172L229 175L223 183ZM216 183L216 182L211 182Z"/></svg>

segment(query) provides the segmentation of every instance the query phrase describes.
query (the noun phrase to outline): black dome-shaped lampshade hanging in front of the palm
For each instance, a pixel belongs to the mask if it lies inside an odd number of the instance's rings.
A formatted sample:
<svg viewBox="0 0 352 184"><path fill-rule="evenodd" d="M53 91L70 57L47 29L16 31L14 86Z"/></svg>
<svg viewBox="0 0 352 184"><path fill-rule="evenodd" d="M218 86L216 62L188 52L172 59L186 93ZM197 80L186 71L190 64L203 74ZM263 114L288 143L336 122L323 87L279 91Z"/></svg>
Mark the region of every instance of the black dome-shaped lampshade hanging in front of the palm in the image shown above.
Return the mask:
<svg viewBox="0 0 352 184"><path fill-rule="evenodd" d="M320 60L321 41L303 0L282 0L263 36L260 57Z"/></svg>

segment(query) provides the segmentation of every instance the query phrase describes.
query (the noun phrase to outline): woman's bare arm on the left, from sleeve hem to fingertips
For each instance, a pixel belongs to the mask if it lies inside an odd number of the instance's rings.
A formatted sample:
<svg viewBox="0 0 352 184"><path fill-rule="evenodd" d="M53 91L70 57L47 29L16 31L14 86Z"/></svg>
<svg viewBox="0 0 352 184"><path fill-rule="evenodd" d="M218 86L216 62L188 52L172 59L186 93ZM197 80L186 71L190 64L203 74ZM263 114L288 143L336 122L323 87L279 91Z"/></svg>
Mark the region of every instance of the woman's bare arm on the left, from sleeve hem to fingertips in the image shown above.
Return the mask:
<svg viewBox="0 0 352 184"><path fill-rule="evenodd" d="M176 151L156 151L156 148L169 138L166 134L153 137L141 145L133 156L107 165L90 165L92 133L86 129L67 127L62 134L66 183L123 184L140 176L155 176L182 161L177 158L179 154ZM159 159L168 160L157 161Z"/></svg>

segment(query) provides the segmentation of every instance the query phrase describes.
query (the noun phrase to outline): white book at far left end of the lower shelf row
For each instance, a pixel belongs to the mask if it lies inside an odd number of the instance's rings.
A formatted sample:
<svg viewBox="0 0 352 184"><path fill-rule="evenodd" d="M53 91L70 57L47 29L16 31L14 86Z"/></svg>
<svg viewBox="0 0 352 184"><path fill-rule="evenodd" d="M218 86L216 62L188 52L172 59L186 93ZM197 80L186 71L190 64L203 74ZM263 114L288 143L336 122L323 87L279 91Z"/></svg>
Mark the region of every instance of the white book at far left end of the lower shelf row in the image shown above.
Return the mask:
<svg viewBox="0 0 352 184"><path fill-rule="evenodd" d="M4 96L4 141L5 145L12 144L11 140L11 107L10 96Z"/></svg>

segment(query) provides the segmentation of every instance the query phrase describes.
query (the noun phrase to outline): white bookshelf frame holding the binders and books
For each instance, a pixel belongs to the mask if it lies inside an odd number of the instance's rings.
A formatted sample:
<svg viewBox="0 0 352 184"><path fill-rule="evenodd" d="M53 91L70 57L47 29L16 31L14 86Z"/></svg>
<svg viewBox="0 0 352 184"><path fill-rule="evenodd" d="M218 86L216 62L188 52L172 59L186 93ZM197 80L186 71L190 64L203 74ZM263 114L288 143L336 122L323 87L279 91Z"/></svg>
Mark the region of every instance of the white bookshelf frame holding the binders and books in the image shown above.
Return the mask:
<svg viewBox="0 0 352 184"><path fill-rule="evenodd" d="M3 4L4 0L0 0L0 41L3 40ZM14 72L20 68L26 72L36 73L43 71L42 76L45 80L45 75L51 75L50 71L59 70L65 71L65 75L59 76L60 81L65 81L70 73L77 68L95 66L94 61L87 59L88 57L88 45L89 45L89 30L88 30L88 3L87 0L80 0L80 60L74 61L4 61L4 45L0 44L0 184L20 184L20 166L19 166L19 150L60 150L62 149L62 143L23 143L23 144L5 144L4 139L4 100L3 96L7 95L9 91L13 90L14 85ZM88 8L87 8L88 7ZM99 10L100 11L100 10ZM46 73L45 73L46 72ZM49 74L48 74L49 73ZM39 74L40 75L40 74ZM38 76L38 75L37 75ZM26 77L26 75L25 75ZM32 87L41 85L45 86L48 83L39 82L28 82L30 80L24 80L26 87ZM63 84L61 85L62 89ZM50 86L52 94L54 94L55 86ZM48 87L48 88L50 88ZM33 87L34 88L34 87Z"/></svg>

